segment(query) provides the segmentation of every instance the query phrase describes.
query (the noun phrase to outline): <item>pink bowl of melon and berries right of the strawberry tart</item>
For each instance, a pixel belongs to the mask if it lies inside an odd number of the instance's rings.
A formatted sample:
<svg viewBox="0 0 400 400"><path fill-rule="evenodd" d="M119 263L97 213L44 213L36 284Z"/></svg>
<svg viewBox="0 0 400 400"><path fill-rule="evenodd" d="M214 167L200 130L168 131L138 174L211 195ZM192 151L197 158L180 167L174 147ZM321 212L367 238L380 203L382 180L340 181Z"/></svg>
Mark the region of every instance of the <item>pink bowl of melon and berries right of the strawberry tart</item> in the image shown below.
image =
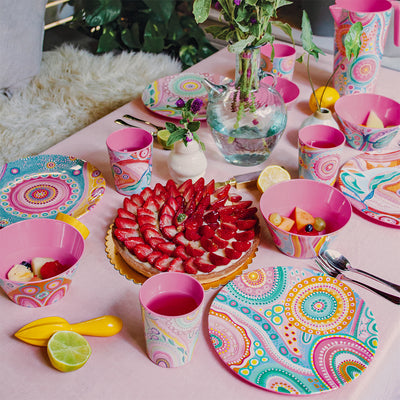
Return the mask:
<svg viewBox="0 0 400 400"><path fill-rule="evenodd" d="M292 179L269 187L260 211L275 246L284 254L313 258L347 225L351 205L334 187L309 179Z"/></svg>

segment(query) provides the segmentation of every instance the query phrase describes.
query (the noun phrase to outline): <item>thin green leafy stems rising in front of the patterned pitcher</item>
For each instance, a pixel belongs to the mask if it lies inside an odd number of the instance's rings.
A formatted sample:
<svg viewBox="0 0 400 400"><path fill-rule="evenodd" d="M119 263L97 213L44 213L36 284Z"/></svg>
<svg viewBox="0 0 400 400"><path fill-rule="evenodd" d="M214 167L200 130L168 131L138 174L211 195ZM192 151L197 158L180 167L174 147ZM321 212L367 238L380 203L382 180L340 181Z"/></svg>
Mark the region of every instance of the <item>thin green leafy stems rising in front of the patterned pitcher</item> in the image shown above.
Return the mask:
<svg viewBox="0 0 400 400"><path fill-rule="evenodd" d="M360 53L361 49L361 34L362 34L363 26L361 22L356 22L353 24L349 31L347 32L345 38L344 38L344 47L346 50L346 57L348 60L351 59L352 56L355 58L358 57L358 54ZM318 61L319 55L325 55L325 53L318 48L318 46L313 43L312 41L313 38L313 33L311 30L311 23L310 19L308 18L307 12L303 10L303 16L302 16L302 21L301 21L301 41L302 41L302 46L304 51L307 54L307 75L308 75L308 80L310 82L311 90L313 92L313 96L315 98L315 101L317 103L317 109L321 110L321 103L324 98L324 94L326 89L329 87L329 84L331 83L331 80L333 76L335 75L336 71L340 67L338 65L332 74L329 76L328 81L326 82L326 85L322 91L321 97L318 99L318 96L315 94L315 88L311 79L311 73L310 73L310 57L314 57L315 60ZM305 54L300 56L297 61L298 62L303 62Z"/></svg>

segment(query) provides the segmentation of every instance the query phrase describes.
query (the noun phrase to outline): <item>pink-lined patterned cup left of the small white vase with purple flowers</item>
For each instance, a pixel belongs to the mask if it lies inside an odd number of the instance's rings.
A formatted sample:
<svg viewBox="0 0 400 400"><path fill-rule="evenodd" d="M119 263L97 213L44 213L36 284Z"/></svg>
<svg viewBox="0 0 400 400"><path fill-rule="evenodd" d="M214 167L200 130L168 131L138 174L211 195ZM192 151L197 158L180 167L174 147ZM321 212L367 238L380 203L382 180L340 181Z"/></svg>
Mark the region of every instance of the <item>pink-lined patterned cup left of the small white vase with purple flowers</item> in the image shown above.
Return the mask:
<svg viewBox="0 0 400 400"><path fill-rule="evenodd" d="M153 135L140 128L124 128L107 138L107 149L118 193L130 196L150 185Z"/></svg>

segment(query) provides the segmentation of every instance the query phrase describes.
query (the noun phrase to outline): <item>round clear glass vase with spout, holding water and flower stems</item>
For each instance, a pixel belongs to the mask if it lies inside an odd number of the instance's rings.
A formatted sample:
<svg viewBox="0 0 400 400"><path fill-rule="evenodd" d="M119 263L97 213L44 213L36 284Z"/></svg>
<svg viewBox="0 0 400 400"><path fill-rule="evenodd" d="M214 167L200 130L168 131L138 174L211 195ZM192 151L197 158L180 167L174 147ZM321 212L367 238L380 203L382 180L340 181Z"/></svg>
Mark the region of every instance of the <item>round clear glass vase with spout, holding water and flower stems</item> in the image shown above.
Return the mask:
<svg viewBox="0 0 400 400"><path fill-rule="evenodd" d="M264 162L286 127L285 103L260 81L260 48L236 55L235 82L209 88L207 123L225 160L241 166Z"/></svg>

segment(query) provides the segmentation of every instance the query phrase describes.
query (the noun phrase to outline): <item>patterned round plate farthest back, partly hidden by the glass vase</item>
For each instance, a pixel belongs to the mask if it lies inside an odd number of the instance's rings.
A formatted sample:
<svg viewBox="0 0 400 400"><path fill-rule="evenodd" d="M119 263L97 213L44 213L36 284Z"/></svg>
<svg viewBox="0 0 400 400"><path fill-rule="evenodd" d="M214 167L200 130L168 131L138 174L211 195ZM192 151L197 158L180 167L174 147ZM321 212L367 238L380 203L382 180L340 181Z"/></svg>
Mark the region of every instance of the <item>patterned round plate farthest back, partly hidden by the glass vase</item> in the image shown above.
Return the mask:
<svg viewBox="0 0 400 400"><path fill-rule="evenodd" d="M177 74L158 79L148 85L142 94L143 104L156 114L164 117L180 119L181 112L169 107L176 107L176 101L182 98L185 102L189 99L200 98L203 107L197 115L198 120L206 118L208 92L203 85L203 78L210 82L221 84L227 78L211 73Z"/></svg>

